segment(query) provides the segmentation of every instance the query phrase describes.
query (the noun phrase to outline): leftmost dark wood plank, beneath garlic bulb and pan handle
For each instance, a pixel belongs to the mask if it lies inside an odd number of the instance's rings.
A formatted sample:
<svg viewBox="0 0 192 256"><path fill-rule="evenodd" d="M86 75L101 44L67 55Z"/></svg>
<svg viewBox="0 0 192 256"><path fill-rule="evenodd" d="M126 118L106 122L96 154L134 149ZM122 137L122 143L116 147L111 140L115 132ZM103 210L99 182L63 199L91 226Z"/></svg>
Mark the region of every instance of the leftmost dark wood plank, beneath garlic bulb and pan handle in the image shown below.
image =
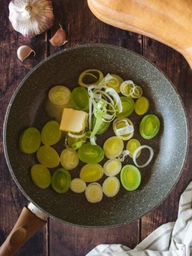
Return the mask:
<svg viewBox="0 0 192 256"><path fill-rule="evenodd" d="M43 60L46 54L45 36L40 35L33 39L25 39L13 30L9 22L9 1L0 2L0 245L10 233L14 223L17 221L23 206L27 205L27 199L22 195L13 181L7 167L3 152L3 122L6 108L9 104L14 90L21 79L39 61ZM21 62L17 58L17 49L20 45L30 45L36 51L36 57L30 57ZM22 246L17 255L46 255L46 227Z"/></svg>

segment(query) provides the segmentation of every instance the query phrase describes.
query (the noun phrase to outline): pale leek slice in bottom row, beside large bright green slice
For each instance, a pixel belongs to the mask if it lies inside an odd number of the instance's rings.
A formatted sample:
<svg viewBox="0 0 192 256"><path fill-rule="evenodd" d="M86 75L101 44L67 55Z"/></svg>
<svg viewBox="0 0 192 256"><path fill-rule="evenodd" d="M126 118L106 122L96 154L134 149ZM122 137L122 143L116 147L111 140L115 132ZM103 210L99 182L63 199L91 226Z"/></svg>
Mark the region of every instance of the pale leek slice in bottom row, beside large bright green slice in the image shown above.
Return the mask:
<svg viewBox="0 0 192 256"><path fill-rule="evenodd" d="M108 197L116 196L120 188L120 182L117 177L108 177L102 185L103 193Z"/></svg>

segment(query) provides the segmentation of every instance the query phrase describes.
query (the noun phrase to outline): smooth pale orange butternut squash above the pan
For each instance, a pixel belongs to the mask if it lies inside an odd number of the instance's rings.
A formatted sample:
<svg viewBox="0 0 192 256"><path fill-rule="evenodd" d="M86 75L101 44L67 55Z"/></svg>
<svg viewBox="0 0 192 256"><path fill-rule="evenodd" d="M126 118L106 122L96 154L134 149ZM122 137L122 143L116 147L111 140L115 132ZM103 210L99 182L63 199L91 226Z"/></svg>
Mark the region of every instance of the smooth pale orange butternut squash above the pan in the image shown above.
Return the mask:
<svg viewBox="0 0 192 256"><path fill-rule="evenodd" d="M192 0L87 0L109 25L156 39L180 52L192 68Z"/></svg>

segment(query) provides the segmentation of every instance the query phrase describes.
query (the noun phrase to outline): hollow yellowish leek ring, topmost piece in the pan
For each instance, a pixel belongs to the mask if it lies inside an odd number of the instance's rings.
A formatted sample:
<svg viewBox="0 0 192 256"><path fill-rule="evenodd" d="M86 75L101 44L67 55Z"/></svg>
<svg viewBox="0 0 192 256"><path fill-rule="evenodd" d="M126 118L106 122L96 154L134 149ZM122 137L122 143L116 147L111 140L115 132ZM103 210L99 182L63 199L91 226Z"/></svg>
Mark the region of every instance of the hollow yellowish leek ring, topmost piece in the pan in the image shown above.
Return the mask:
<svg viewBox="0 0 192 256"><path fill-rule="evenodd" d="M99 77L95 76L93 73L98 73ZM86 83L83 82L83 79L85 78L85 76L94 77L96 79L96 81L94 83L86 84ZM103 79L103 74L100 70L98 70L98 69L87 69L79 75L78 84L82 87L88 87L90 85L99 84L102 81L102 79Z"/></svg>

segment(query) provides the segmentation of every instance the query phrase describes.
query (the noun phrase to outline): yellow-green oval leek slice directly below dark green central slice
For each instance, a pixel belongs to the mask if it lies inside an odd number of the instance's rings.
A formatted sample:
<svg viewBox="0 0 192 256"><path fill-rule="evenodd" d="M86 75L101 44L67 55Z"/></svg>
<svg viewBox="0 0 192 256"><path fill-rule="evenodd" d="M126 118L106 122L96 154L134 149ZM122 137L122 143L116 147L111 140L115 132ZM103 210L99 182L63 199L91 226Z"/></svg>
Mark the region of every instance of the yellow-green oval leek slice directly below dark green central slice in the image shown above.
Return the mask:
<svg viewBox="0 0 192 256"><path fill-rule="evenodd" d="M85 182L94 182L102 178L103 167L100 164L86 164L82 167L79 174Z"/></svg>

